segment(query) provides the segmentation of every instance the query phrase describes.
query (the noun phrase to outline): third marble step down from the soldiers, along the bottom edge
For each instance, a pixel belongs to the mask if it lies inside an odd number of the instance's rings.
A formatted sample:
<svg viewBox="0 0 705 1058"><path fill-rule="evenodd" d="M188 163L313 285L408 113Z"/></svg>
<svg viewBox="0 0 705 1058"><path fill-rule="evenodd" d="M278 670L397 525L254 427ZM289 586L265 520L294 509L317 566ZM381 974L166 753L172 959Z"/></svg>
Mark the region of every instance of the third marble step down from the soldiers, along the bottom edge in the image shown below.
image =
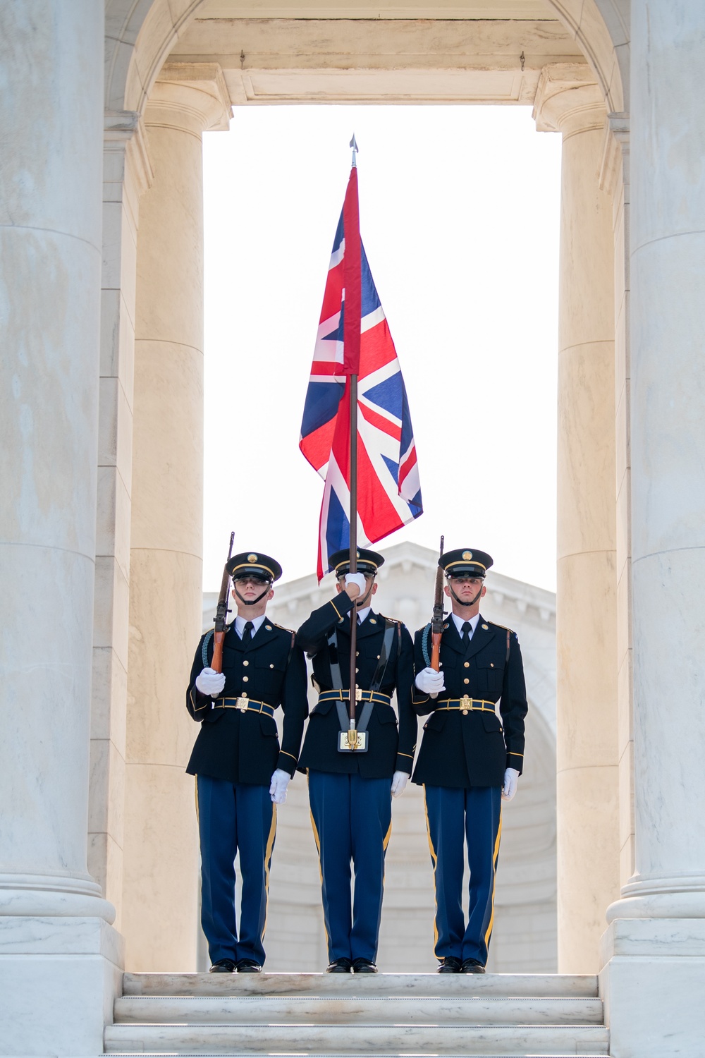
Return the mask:
<svg viewBox="0 0 705 1058"><path fill-rule="evenodd" d="M116 1024L107 1054L607 1055L599 1025Z"/></svg>

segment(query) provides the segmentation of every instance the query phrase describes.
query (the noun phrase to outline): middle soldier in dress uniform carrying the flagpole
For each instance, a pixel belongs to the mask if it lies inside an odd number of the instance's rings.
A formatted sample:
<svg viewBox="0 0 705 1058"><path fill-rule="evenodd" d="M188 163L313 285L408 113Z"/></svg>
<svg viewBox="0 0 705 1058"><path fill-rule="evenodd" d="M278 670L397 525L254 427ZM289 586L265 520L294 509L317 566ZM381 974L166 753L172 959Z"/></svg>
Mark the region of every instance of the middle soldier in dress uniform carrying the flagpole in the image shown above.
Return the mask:
<svg viewBox="0 0 705 1058"><path fill-rule="evenodd" d="M350 572L349 549L337 551L330 561L337 595L315 609L296 634L297 643L313 658L313 680L319 692L299 767L309 773L328 971L375 973L391 797L403 792L415 749L413 644L400 621L371 608L383 557L359 548L356 573ZM339 749L340 731L348 730L349 614L354 600L358 607L355 716L358 731L367 731L366 752ZM398 728L390 700L394 690ZM355 869L352 908L351 860Z"/></svg>

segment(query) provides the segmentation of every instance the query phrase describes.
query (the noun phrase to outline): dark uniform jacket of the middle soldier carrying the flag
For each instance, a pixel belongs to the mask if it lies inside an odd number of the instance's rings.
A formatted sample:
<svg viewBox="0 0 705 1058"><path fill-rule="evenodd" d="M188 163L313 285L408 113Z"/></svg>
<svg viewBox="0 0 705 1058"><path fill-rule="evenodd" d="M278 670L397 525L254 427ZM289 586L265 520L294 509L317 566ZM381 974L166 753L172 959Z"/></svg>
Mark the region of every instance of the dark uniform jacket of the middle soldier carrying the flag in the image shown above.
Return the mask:
<svg viewBox="0 0 705 1058"><path fill-rule="evenodd" d="M296 642L313 657L313 676L319 691L333 690L328 636L337 628L338 661L344 689L350 688L350 597L341 591L331 602L315 609L296 634ZM418 720L411 705L413 680L413 643L408 630L401 622L396 628L387 661L383 694L396 691L396 713L392 706L375 703L368 723L369 749L366 753L338 752L340 723L335 701L319 701L312 710L309 728L303 741L299 767L316 771L340 773L359 772L364 779L391 779L394 771L411 773L416 744ZM370 610L357 626L357 686L369 690L374 678L385 636L385 618ZM359 719L365 707L358 701ZM345 703L346 711L348 703Z"/></svg>

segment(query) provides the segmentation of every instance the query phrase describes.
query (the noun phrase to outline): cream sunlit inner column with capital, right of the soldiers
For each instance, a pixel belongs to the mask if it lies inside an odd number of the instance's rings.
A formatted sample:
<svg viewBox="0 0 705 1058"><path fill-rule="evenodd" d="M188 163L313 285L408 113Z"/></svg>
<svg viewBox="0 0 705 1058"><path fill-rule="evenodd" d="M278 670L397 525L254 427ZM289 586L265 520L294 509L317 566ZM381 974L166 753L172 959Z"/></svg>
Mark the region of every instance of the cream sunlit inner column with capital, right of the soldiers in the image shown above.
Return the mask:
<svg viewBox="0 0 705 1058"><path fill-rule="evenodd" d="M606 110L585 66L544 67L534 117L562 134L558 349L558 968L594 973L618 893L614 243Z"/></svg>

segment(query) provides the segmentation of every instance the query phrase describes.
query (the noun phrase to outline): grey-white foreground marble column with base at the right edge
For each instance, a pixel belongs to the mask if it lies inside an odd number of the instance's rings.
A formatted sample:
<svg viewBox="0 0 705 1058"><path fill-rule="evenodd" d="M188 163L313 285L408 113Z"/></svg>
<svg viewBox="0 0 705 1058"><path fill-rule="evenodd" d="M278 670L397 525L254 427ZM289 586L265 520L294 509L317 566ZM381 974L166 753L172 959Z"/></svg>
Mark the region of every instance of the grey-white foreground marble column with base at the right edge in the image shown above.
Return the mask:
<svg viewBox="0 0 705 1058"><path fill-rule="evenodd" d="M650 1058L705 1034L705 8L631 19L634 873L602 983L611 1053Z"/></svg>

